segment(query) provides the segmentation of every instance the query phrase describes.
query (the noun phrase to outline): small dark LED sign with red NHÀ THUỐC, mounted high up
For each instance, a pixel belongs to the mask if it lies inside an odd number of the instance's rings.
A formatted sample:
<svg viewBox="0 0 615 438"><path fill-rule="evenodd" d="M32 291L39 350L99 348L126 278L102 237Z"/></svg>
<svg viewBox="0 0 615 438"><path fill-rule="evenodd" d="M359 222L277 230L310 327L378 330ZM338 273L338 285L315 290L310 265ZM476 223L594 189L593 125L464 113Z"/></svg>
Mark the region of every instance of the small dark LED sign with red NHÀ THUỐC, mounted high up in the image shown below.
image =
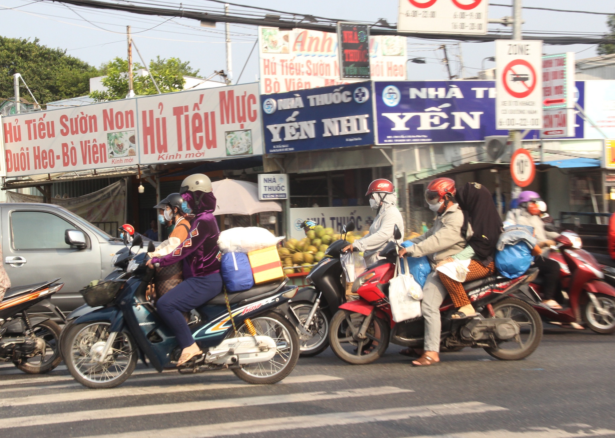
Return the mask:
<svg viewBox="0 0 615 438"><path fill-rule="evenodd" d="M370 79L370 26L338 22L341 79Z"/></svg>

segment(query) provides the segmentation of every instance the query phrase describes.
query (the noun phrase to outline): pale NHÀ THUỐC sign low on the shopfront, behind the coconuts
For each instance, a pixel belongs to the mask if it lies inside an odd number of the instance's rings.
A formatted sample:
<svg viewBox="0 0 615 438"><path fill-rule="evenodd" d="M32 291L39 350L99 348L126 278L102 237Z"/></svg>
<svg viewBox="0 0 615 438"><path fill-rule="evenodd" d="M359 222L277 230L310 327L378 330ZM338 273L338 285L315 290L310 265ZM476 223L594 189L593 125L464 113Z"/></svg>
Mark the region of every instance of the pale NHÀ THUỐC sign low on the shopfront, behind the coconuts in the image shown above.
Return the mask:
<svg viewBox="0 0 615 438"><path fill-rule="evenodd" d="M332 228L335 233L339 234L342 227L351 220L354 221L357 231L368 231L375 216L376 211L368 206L291 208L290 223L292 227L290 237L304 238L305 232L301 228L301 224L308 219L325 228Z"/></svg>

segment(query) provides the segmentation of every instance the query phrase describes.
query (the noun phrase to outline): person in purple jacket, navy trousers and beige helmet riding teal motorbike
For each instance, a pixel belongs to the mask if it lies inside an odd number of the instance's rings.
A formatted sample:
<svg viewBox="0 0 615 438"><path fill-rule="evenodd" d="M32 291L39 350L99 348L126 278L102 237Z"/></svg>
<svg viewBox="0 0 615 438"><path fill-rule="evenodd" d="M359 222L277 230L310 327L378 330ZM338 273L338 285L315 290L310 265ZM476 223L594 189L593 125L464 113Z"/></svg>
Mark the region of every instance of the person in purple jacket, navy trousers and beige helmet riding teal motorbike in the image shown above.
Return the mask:
<svg viewBox="0 0 615 438"><path fill-rule="evenodd" d="M177 366L202 354L182 312L203 305L222 291L218 257L220 230L213 216L216 198L212 193L212 182L204 174L188 176L181 183L180 194L195 214L188 238L167 256L153 257L147 262L148 267L153 268L154 264L165 267L183 260L184 281L156 303L158 315L173 330L183 349Z"/></svg>

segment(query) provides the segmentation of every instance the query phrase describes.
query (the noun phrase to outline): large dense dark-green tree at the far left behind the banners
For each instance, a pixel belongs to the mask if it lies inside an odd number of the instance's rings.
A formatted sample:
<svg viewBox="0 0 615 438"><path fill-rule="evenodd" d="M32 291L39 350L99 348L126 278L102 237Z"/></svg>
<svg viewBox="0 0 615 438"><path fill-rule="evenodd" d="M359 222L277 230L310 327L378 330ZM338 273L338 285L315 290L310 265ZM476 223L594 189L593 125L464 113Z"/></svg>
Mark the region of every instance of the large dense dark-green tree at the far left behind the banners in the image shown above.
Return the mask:
<svg viewBox="0 0 615 438"><path fill-rule="evenodd" d="M0 36L0 97L14 98L13 75L20 73L39 103L84 96L90 90L90 77L98 69L66 55L66 50L50 49L39 39ZM30 96L23 87L20 94Z"/></svg>

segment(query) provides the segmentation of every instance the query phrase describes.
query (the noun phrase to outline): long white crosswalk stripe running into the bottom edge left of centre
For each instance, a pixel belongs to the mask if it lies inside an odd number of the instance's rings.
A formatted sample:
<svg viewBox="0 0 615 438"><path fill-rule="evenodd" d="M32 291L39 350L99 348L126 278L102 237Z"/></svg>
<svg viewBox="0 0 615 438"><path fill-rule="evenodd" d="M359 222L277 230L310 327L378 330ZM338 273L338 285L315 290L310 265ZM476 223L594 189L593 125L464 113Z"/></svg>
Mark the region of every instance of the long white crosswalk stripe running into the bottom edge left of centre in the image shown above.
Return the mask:
<svg viewBox="0 0 615 438"><path fill-rule="evenodd" d="M232 421L231 423L200 424L185 428L154 429L82 438L209 438L227 435L257 434L261 432L290 431L295 429L344 426L346 424L373 423L375 421L406 420L413 417L461 415L507 410L500 406L480 402L465 402L392 409L374 409L354 412L331 412L318 415L283 416L262 420Z"/></svg>

